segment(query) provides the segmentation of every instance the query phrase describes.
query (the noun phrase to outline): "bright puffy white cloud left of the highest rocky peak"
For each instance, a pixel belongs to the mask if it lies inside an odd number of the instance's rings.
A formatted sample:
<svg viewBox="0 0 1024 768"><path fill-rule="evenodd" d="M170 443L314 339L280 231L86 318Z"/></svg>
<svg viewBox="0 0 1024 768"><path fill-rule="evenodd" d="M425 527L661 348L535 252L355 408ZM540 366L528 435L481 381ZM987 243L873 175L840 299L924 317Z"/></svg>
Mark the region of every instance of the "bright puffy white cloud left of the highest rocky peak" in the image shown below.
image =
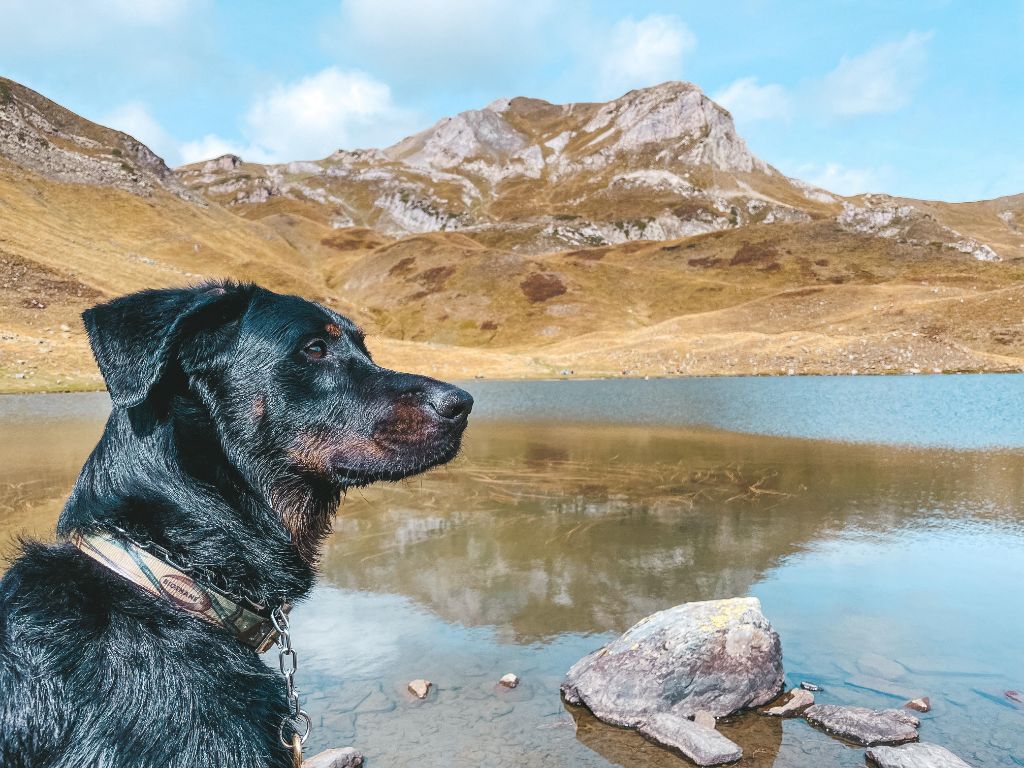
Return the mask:
<svg viewBox="0 0 1024 768"><path fill-rule="evenodd" d="M312 160L341 146L384 146L411 124L386 83L332 67L257 98L245 132L264 161Z"/></svg>

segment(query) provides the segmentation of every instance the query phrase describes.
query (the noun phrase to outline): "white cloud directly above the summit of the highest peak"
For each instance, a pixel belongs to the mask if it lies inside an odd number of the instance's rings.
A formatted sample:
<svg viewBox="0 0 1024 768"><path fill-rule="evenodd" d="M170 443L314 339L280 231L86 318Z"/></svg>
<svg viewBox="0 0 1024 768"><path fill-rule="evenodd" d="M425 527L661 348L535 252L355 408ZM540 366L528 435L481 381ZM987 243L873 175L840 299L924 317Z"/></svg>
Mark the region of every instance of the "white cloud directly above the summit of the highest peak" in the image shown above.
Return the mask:
<svg viewBox="0 0 1024 768"><path fill-rule="evenodd" d="M683 59L695 47L693 33L676 16L624 18L594 51L600 61L601 94L618 96L632 88L679 80Z"/></svg>

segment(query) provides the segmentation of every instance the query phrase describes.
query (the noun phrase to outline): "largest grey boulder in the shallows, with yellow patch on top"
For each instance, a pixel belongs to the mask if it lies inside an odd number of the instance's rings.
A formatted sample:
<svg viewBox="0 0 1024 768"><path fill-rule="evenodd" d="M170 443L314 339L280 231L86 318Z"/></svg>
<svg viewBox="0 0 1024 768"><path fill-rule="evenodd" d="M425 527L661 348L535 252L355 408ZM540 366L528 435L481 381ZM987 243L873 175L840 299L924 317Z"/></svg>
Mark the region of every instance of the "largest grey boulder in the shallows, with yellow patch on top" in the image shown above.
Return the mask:
<svg viewBox="0 0 1024 768"><path fill-rule="evenodd" d="M757 598L685 603L641 620L584 656L562 683L569 703L635 728L653 716L716 717L782 688L782 645Z"/></svg>

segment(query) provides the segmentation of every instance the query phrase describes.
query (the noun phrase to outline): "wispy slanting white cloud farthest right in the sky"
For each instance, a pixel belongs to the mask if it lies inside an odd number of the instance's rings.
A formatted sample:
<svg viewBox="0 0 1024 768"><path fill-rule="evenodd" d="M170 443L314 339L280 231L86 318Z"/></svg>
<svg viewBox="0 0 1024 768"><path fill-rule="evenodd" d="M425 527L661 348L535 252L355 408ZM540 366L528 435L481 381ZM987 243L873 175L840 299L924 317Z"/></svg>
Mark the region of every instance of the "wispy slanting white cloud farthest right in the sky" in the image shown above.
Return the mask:
<svg viewBox="0 0 1024 768"><path fill-rule="evenodd" d="M905 106L925 77L931 33L911 32L859 56L843 56L821 84L821 97L836 115L895 112Z"/></svg>

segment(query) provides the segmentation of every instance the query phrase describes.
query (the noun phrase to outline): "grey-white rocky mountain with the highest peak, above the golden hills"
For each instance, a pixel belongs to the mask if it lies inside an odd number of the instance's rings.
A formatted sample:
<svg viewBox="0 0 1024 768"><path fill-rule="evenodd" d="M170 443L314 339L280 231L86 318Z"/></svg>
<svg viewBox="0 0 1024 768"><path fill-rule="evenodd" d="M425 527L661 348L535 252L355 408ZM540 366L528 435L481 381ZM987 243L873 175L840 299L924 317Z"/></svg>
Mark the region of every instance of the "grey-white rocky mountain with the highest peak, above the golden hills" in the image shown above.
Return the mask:
<svg viewBox="0 0 1024 768"><path fill-rule="evenodd" d="M392 237L460 231L524 253L829 218L848 231L979 259L1001 258L986 242L994 237L1006 255L1024 255L1020 227L1012 225L1020 201L982 211L840 198L755 157L729 113L680 82L607 103L499 99L385 150L279 165L224 156L177 174L250 218L290 212ZM988 226L978 229L982 219Z"/></svg>

